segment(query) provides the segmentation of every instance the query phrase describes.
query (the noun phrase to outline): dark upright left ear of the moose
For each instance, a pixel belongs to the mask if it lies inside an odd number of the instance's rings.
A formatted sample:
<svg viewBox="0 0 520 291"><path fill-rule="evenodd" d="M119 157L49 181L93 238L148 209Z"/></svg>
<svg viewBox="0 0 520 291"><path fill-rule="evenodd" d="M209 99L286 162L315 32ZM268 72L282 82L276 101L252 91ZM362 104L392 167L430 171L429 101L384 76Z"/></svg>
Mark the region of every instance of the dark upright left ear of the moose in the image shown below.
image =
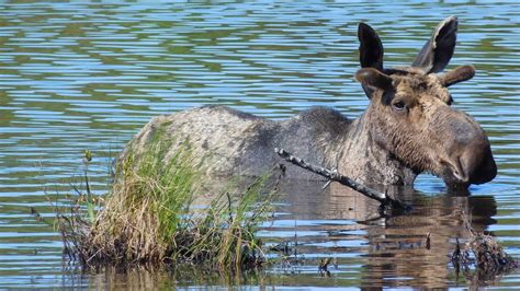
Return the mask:
<svg viewBox="0 0 520 291"><path fill-rule="evenodd" d="M368 24L360 23L358 38L360 39L361 68L375 68L383 71L383 45L377 33Z"/></svg>

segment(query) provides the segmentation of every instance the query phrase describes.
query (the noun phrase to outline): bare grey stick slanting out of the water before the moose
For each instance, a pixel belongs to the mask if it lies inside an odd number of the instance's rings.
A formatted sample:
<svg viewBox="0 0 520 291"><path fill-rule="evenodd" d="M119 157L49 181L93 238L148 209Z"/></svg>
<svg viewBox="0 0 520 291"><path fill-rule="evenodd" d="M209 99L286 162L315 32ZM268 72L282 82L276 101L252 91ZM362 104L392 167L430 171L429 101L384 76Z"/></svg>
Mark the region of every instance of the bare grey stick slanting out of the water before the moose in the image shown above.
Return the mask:
<svg viewBox="0 0 520 291"><path fill-rule="evenodd" d="M304 160L292 155L290 152L287 152L283 149L275 148L274 152L276 152L285 161L291 162L291 163L293 163L293 164L295 164L299 167L303 167L307 171L310 171L313 173L316 173L320 176L324 176L324 177L328 178L329 181L339 182L340 184L342 184L344 186L348 186L348 187L361 193L362 195L364 195L364 196L366 196L371 199L377 200L382 206L391 206L391 207L403 208L403 209L408 208L407 206L403 205L399 200L396 200L392 197L388 197L388 195L386 195L384 193L381 193L381 191L374 190L372 188L369 188L369 187L364 186L363 184L360 184L360 183L358 183L358 182L355 182L355 181L353 181L353 179L351 179L347 176L343 176L343 175L339 174L337 171L331 171L331 170L328 170L328 168L325 168L325 167L320 167L320 166L309 164L309 163L305 162Z"/></svg>

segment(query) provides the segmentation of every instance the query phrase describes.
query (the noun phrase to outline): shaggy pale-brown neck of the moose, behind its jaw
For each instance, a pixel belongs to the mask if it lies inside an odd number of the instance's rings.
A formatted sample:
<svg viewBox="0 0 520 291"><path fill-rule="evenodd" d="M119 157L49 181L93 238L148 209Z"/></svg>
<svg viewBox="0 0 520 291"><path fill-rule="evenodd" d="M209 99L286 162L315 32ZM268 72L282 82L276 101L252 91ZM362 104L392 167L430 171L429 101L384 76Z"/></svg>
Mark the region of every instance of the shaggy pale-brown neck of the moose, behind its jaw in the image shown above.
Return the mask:
<svg viewBox="0 0 520 291"><path fill-rule="evenodd" d="M373 185L412 185L417 176L375 138L377 121L370 108L355 119L341 144L337 144L338 171L355 181Z"/></svg>

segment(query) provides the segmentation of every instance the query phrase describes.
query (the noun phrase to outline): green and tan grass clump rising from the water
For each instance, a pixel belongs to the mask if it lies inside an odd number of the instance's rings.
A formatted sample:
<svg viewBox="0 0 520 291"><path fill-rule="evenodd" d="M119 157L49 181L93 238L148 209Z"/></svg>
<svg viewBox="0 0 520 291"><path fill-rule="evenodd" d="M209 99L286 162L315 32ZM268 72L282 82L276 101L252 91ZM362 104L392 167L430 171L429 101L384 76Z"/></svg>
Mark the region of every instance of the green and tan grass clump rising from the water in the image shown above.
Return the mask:
<svg viewBox="0 0 520 291"><path fill-rule="evenodd" d="M262 264L260 223L272 211L272 175L245 190L225 191L201 207L202 175L192 164L189 143L165 164L169 142L150 142L120 161L114 182L92 214L87 194L70 212L58 216L65 252L88 266L194 263L239 269ZM272 190L265 194L268 184ZM278 184L278 183L276 183ZM90 193L90 190L89 190ZM87 205L84 205L87 202Z"/></svg>

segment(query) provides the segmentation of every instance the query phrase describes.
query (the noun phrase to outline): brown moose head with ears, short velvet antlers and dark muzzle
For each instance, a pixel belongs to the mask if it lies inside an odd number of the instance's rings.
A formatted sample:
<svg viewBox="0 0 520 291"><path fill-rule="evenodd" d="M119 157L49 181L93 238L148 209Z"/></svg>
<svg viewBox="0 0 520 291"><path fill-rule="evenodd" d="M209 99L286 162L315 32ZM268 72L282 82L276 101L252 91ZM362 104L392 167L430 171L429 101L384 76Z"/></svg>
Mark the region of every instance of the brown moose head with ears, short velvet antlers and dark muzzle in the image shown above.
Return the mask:
<svg viewBox="0 0 520 291"><path fill-rule="evenodd" d="M457 20L442 21L410 67L383 66L376 32L361 23L355 79L370 105L371 136L415 173L429 172L449 186L483 184L497 174L486 133L467 114L453 108L448 88L475 74L472 66L440 73L455 49Z"/></svg>

